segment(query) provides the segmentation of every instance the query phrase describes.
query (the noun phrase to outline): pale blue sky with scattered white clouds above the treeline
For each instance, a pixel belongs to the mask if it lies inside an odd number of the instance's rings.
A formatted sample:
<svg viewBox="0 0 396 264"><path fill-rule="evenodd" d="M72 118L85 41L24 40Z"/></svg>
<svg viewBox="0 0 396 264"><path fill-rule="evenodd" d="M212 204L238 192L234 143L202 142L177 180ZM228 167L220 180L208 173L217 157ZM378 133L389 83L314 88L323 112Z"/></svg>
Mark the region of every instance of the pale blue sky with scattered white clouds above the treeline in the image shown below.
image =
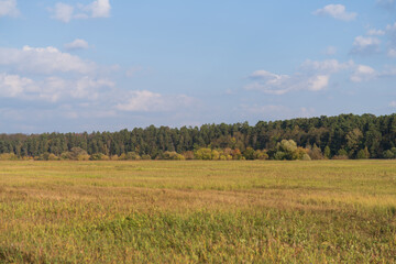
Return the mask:
<svg viewBox="0 0 396 264"><path fill-rule="evenodd" d="M0 0L0 133L396 112L396 0Z"/></svg>

